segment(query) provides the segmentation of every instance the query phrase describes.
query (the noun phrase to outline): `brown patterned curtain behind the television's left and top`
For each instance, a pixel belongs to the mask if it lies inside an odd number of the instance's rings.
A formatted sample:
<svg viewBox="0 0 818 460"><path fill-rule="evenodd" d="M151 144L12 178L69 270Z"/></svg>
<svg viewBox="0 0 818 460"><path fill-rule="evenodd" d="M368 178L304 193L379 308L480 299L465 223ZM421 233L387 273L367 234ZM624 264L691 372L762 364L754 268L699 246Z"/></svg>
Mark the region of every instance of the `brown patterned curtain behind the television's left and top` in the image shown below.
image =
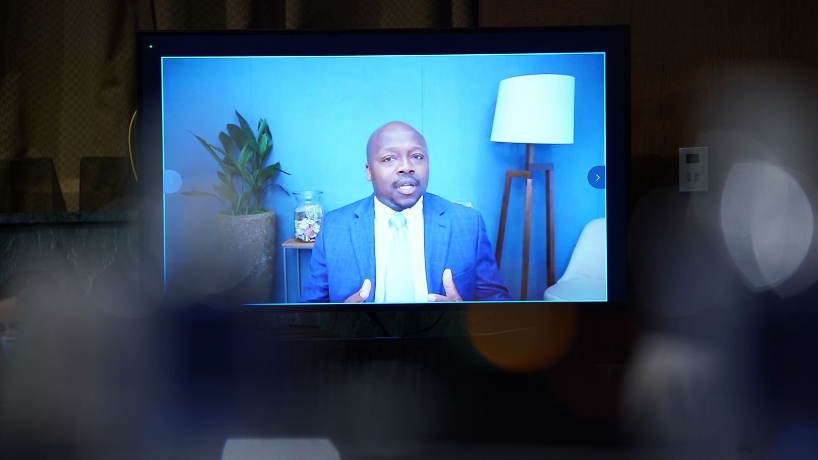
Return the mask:
<svg viewBox="0 0 818 460"><path fill-rule="evenodd" d="M137 29L474 25L471 0L4 0L0 159L54 160L79 209L79 160L127 156Z"/></svg>

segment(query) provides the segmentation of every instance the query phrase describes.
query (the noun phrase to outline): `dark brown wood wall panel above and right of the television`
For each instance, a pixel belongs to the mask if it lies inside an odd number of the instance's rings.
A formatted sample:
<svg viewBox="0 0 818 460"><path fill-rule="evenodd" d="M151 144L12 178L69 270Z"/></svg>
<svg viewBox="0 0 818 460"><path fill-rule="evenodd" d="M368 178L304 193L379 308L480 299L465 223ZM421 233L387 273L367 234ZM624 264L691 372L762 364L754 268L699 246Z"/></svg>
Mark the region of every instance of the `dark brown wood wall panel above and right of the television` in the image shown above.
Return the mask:
<svg viewBox="0 0 818 460"><path fill-rule="evenodd" d="M818 95L814 0L483 0L479 15L483 26L631 25L636 196L676 183L678 148L724 123L705 107L736 83L774 69L800 75L802 97Z"/></svg>

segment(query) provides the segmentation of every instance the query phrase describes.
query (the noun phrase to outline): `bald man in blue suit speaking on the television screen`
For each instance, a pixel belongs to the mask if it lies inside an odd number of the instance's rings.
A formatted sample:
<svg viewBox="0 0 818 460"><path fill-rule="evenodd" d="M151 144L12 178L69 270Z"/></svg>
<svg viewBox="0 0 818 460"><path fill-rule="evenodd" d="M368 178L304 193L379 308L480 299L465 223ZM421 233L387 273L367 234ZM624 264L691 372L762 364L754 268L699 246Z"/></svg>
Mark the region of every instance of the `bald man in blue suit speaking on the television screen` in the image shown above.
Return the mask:
<svg viewBox="0 0 818 460"><path fill-rule="evenodd" d="M327 213L301 302L511 300L483 217L426 193L423 136L384 124L366 144L375 191Z"/></svg>

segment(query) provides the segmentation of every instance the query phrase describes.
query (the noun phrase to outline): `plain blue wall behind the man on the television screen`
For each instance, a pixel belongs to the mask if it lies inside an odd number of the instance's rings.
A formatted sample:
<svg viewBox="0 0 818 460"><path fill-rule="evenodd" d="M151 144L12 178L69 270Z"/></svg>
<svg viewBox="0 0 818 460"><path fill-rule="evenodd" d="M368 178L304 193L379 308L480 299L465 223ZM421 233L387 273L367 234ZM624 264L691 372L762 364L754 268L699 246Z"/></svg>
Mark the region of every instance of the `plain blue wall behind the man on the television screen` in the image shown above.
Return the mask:
<svg viewBox="0 0 818 460"><path fill-rule="evenodd" d="M582 227L605 215L605 193L590 187L587 172L605 164L604 56L399 56L341 58L175 58L164 60L165 167L185 181L182 191L216 183L215 161L191 134L218 145L218 133L236 123L234 110L255 127L270 125L290 176L288 191L322 190L326 210L369 196L366 140L381 124L402 120L429 146L429 192L471 201L483 214L492 244L497 238L506 169L524 167L524 145L490 142L501 79L523 74L576 77L574 143L537 146L537 160L555 166L555 263L564 273ZM529 299L545 289L544 187L535 183ZM540 187L540 188L537 188ZM266 197L275 210L277 244L292 233L294 198ZM519 294L524 185L512 190L501 270ZM194 201L196 203L194 204ZM209 244L218 202L180 194L166 198L169 276L187 254ZM519 224L518 224L519 223ZM191 230L195 229L194 232ZM281 250L276 286L282 286ZM306 262L306 260L304 260ZM283 301L281 288L276 301ZM291 291L294 294L294 291Z"/></svg>

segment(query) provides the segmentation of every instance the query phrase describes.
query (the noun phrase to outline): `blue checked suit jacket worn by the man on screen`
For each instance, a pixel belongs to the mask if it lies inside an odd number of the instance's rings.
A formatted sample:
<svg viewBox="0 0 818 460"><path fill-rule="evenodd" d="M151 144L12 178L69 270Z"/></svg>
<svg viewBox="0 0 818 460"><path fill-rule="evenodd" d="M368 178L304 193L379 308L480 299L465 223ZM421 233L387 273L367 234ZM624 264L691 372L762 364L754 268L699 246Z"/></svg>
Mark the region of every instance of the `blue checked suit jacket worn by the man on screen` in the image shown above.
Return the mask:
<svg viewBox="0 0 818 460"><path fill-rule="evenodd" d="M369 196L324 215L300 302L343 302L369 278L375 297L375 198ZM463 300L511 300L479 212L425 193L426 284L446 295L443 270Z"/></svg>

